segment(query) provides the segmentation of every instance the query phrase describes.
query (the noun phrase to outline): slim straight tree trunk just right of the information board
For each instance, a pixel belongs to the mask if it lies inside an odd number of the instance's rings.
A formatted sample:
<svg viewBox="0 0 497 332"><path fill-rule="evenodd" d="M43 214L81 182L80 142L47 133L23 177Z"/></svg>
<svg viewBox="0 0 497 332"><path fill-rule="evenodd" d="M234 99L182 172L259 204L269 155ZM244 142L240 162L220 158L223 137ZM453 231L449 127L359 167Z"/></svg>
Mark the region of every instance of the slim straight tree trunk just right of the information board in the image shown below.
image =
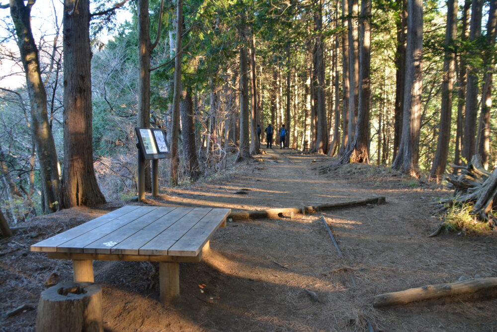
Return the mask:
<svg viewBox="0 0 497 332"><path fill-rule="evenodd" d="M174 58L174 93L172 97L171 113L171 161L169 168L169 183L171 186L178 184L179 155L179 100L181 98L181 60L183 53L181 51L181 41L183 34L183 0L177 0L176 3L176 57Z"/></svg>

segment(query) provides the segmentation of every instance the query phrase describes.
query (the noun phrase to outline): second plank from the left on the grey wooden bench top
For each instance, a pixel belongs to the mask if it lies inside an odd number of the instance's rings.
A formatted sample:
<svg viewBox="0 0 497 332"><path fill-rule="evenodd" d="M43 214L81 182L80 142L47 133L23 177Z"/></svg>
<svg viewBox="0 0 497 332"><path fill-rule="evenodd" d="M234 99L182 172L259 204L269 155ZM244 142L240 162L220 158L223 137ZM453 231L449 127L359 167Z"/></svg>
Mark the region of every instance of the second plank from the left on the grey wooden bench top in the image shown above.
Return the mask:
<svg viewBox="0 0 497 332"><path fill-rule="evenodd" d="M157 207L139 207L138 209L114 219L112 222L107 222L99 227L93 228L92 230L72 239L61 245L57 246L58 252L83 252L83 247L98 240L99 238L107 235L108 233L121 228L125 224L128 224L152 211L157 209Z"/></svg>

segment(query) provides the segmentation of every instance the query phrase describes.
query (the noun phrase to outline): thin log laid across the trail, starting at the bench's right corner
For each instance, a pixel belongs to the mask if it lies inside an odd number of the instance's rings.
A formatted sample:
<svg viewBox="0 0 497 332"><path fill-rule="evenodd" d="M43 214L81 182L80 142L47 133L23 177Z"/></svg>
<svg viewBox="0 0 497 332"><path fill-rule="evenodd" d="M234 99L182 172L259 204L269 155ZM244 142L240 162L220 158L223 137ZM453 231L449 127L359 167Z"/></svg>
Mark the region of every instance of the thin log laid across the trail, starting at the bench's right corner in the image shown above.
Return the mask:
<svg viewBox="0 0 497 332"><path fill-rule="evenodd" d="M316 206L307 206L302 208L281 208L281 209L267 209L267 210L254 210L254 211L240 211L240 212L232 212L228 218L233 220L244 220L244 219L261 219L261 218L269 218L269 219L279 219L283 216L283 214L313 214L319 211L325 210L333 210L340 208L350 208L350 207L358 207L367 204L385 204L385 197L375 197L369 198L365 200L356 200L356 201L348 201L348 202L338 202L331 204L322 204Z"/></svg>

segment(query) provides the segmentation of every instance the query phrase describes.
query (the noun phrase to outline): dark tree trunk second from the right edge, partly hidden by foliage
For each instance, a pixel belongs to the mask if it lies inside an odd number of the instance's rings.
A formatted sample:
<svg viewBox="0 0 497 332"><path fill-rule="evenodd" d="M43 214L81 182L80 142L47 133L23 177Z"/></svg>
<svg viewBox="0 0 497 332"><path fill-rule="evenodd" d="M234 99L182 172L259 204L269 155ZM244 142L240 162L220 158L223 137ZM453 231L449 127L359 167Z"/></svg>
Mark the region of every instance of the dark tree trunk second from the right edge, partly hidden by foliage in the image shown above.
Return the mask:
<svg viewBox="0 0 497 332"><path fill-rule="evenodd" d="M470 41L474 44L482 32L483 0L473 0L471 3ZM475 49L477 46L474 45ZM474 52L477 56L478 51ZM470 160L476 148L476 118L478 115L478 68L469 66L468 85L466 91L466 111L463 137L463 157Z"/></svg>

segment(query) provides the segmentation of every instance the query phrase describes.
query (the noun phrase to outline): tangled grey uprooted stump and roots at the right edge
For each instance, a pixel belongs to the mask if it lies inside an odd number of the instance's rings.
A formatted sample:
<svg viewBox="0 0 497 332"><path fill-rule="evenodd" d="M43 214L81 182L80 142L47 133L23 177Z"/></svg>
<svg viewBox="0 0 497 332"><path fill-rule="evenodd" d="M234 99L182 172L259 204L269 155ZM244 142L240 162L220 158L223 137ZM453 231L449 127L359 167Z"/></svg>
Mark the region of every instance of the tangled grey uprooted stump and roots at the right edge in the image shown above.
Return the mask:
<svg viewBox="0 0 497 332"><path fill-rule="evenodd" d="M491 221L497 227L493 210L497 208L497 168L491 173L483 167L482 156L476 154L466 166L451 165L457 174L446 174L449 187L454 190L452 198L442 200L438 213L449 206L471 204L473 214L481 221Z"/></svg>

